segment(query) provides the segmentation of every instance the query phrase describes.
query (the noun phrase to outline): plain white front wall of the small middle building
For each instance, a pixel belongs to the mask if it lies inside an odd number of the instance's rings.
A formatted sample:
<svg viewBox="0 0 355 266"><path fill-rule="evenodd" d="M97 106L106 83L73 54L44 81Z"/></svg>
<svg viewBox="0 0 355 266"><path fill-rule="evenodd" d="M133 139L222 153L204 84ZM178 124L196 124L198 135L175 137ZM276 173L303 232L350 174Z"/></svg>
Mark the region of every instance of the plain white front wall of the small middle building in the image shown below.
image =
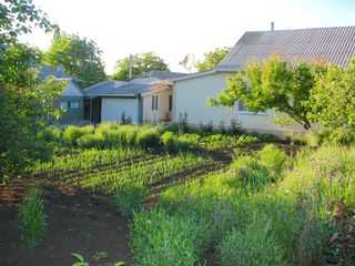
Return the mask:
<svg viewBox="0 0 355 266"><path fill-rule="evenodd" d="M131 116L132 123L139 123L138 99L130 98L102 98L101 121L121 120L124 112L125 116Z"/></svg>

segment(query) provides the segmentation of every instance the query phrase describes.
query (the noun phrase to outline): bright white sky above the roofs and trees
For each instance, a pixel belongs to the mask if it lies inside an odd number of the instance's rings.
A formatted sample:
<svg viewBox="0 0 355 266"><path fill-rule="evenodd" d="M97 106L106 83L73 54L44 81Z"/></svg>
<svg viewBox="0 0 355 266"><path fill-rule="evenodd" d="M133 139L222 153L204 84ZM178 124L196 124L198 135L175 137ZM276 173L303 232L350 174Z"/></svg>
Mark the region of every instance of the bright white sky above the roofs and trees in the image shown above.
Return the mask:
<svg viewBox="0 0 355 266"><path fill-rule="evenodd" d="M245 31L355 25L355 0L33 0L61 31L102 50L108 74L130 53L155 52L171 71L187 53L233 47ZM34 30L23 42L50 48L52 33Z"/></svg>

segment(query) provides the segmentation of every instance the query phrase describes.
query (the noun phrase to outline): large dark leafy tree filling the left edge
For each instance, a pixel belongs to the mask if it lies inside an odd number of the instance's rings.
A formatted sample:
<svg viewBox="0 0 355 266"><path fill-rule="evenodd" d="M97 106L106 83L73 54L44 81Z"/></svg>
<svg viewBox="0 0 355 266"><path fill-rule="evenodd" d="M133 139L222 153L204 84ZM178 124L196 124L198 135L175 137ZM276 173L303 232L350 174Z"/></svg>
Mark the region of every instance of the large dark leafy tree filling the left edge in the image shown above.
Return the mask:
<svg viewBox="0 0 355 266"><path fill-rule="evenodd" d="M18 43L18 35L31 31L31 24L47 31L52 24L30 0L0 4L0 180L19 172L44 155L37 132L45 115L59 115L53 100L64 83L52 79L42 83L31 66L41 63L41 53Z"/></svg>

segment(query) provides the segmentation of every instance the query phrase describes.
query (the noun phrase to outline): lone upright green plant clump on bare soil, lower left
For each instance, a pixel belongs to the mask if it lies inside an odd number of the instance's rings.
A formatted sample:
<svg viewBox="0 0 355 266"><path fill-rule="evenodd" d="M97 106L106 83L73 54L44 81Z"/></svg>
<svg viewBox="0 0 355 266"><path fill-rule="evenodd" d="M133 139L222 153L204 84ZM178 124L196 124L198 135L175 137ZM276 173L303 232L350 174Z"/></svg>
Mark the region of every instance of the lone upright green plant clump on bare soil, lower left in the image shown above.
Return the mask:
<svg viewBox="0 0 355 266"><path fill-rule="evenodd" d="M19 208L21 244L26 247L38 245L44 235L45 214L41 191L31 187Z"/></svg>

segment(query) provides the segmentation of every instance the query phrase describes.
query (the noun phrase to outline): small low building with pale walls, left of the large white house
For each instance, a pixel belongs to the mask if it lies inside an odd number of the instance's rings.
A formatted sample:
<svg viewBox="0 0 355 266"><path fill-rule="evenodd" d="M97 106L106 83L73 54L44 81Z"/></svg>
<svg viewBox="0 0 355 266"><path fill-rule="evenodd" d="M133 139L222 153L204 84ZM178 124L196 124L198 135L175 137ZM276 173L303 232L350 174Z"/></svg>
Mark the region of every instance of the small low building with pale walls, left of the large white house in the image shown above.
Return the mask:
<svg viewBox="0 0 355 266"><path fill-rule="evenodd" d="M172 79L183 73L152 71L129 81L106 81L84 89L85 119L99 123L120 122L124 113L133 124L158 124L171 120Z"/></svg>

